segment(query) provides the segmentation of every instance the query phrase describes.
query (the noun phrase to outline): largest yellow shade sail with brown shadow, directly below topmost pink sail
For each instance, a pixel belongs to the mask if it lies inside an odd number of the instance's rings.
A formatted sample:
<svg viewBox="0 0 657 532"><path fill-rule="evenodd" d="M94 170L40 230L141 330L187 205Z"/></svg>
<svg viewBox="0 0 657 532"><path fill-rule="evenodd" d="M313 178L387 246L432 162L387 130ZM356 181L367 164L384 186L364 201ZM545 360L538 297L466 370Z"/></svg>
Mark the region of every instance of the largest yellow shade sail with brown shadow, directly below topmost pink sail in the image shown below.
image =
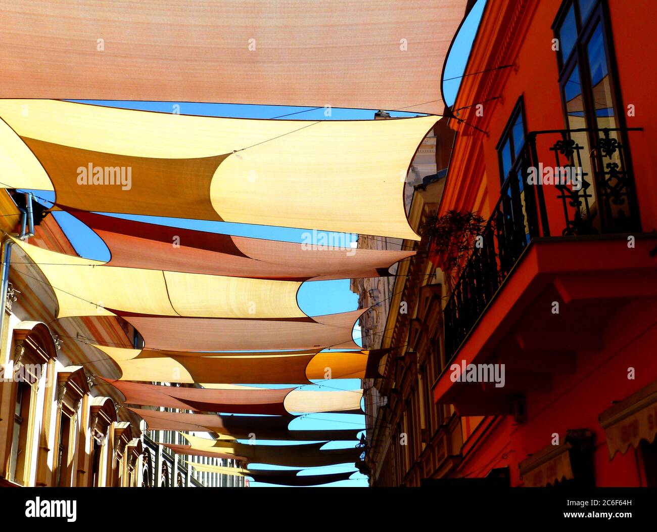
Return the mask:
<svg viewBox="0 0 657 532"><path fill-rule="evenodd" d="M249 120L6 100L0 118L70 208L419 239L404 180L435 116Z"/></svg>

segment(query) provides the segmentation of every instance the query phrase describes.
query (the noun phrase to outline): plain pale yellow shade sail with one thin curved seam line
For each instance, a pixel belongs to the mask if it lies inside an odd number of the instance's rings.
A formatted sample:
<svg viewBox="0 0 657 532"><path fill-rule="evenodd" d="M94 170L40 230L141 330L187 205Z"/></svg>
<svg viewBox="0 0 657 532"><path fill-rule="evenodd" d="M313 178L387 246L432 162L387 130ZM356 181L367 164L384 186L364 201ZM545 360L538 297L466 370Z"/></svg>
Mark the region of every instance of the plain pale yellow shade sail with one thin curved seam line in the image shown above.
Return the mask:
<svg viewBox="0 0 657 532"><path fill-rule="evenodd" d="M58 318L112 316L109 309L162 316L307 318L296 303L298 282L117 268L13 240L53 287Z"/></svg>

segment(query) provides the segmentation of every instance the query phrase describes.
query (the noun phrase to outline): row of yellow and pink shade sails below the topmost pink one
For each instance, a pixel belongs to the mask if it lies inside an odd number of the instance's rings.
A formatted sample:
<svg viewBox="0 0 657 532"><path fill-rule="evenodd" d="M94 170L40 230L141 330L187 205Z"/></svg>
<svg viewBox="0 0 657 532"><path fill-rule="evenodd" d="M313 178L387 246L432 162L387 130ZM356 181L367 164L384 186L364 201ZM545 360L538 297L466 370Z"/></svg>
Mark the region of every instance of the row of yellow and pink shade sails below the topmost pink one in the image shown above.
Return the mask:
<svg viewBox="0 0 657 532"><path fill-rule="evenodd" d="M352 339L367 309L309 317L296 295L304 281L387 275L411 252L218 235L95 211L417 239L405 216L403 177L436 116L315 123L5 100L0 118L0 166L11 170L2 186L55 191L54 208L95 231L111 257L89 260L14 238L20 253L12 263L19 271L39 268L57 299L57 318L119 316L139 331L141 349L96 347L120 371L104 384L116 387L149 429L215 434L184 435L185 445L168 446L244 466L355 463L359 431L304 431L290 423L299 414L362 413L361 390L227 383L378 376L385 351L364 351ZM127 168L129 186L119 178ZM240 443L250 435L301 443ZM353 446L322 448L327 441ZM351 473L240 467L227 474L315 485Z"/></svg>

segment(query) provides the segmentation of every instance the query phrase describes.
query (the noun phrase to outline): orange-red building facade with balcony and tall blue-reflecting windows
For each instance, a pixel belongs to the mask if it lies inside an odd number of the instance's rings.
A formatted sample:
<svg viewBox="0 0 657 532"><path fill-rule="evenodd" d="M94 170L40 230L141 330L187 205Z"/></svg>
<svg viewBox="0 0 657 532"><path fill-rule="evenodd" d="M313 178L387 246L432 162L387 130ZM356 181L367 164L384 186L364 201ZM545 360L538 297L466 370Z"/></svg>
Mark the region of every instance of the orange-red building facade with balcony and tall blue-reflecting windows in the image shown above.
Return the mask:
<svg viewBox="0 0 657 532"><path fill-rule="evenodd" d="M487 3L438 211L487 220L442 308L432 393L472 427L447 477L657 485L656 19Z"/></svg>

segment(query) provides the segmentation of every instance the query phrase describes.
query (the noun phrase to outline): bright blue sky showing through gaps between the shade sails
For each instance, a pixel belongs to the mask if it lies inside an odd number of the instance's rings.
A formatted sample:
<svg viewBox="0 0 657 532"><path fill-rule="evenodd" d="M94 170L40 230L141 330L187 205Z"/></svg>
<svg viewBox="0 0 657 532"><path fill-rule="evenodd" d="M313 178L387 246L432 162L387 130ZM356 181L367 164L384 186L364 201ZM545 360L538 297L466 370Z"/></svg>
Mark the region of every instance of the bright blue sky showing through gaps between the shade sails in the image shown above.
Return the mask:
<svg viewBox="0 0 657 532"><path fill-rule="evenodd" d="M463 74L466 66L468 54L472 39L481 18L485 5L485 0L479 0L470 12L468 19L463 25L451 54L447 59L445 66L445 79L448 80L443 85L445 100L447 105L451 105L455 99L460 79L458 76ZM208 103L177 103L177 102L144 102L144 101L85 101L85 103L95 103L98 105L107 105L110 107L122 107L125 109L152 110L159 112L172 112L174 105L181 114L196 114L202 116L226 116L234 118L278 118L281 120L371 120L373 118L372 110L354 110L354 109L332 109L331 116L325 116L325 109L313 109L307 107L281 107L265 105L231 105L231 104L208 104ZM412 113L391 112L392 116L414 116ZM349 193L349 191L344 191ZM39 197L47 200L53 200L54 194L38 191ZM97 260L108 260L109 252L101 239L81 224L76 218L64 212L54 214L58 223L62 226L66 235L70 238L76 251L81 256L94 258ZM118 216L118 215L115 215ZM229 224L225 222L202 222L198 220L181 220L177 218L157 218L150 216L131 216L122 215L123 218L141 220L164 224L168 226L183 227L215 233L227 233L247 237L258 237L265 239L284 240L290 242L302 241L305 230L291 228L272 228L268 226L250 226L247 224ZM347 235L348 241L355 241L355 235ZM349 279L338 281L314 281L304 283L298 293L299 306L309 316L321 314L332 314L334 312L346 312L357 308L357 295L349 289ZM355 329L355 338L358 337L359 329ZM359 341L359 340L357 340ZM284 387L286 385L281 385ZM278 387L278 386L277 386ZM307 385L302 389L319 389L323 391L335 391L336 389L353 390L359 389L360 381L358 379L336 379L332 381L315 381L315 385ZM309 414L294 420L292 429L349 429L364 428L365 416L353 414ZM268 444L285 445L288 442L267 442ZM352 447L353 442L330 442L325 448ZM254 468L271 469L271 466L264 464L252 464ZM281 468L284 469L284 468ZM326 468L313 468L306 474L318 473L337 473L353 470L353 464L344 464L342 466L330 466ZM253 487L258 487L259 483L252 483ZM366 486L367 477L360 473L354 473L348 481L340 481L331 486Z"/></svg>

